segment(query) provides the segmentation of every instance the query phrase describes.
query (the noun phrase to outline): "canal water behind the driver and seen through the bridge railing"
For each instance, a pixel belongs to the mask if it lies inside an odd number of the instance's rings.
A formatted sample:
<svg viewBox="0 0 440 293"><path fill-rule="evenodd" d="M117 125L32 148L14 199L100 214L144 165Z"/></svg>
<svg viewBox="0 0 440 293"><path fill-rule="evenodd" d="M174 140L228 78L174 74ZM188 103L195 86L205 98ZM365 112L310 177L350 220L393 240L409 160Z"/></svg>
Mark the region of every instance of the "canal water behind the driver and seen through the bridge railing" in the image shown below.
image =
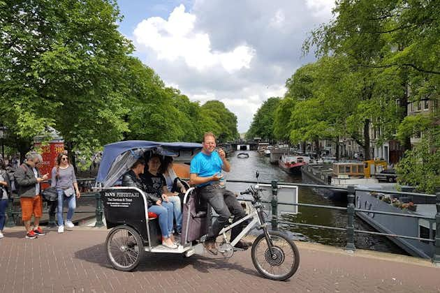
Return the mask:
<svg viewBox="0 0 440 293"><path fill-rule="evenodd" d="M282 182L302 183L301 175L292 175L284 172L278 167L278 165L270 164L269 158L262 156L256 151L245 152L249 154L249 158L237 158L237 151L228 157L231 171L226 173L226 179L256 181L255 174L256 170L258 170L260 173L259 181L269 182L273 179L278 179ZM249 184L240 184L242 190L247 188L247 186L249 186ZM299 189L298 202L302 204L346 206L346 204L332 202L316 193L312 188L306 187ZM298 206L297 215L285 215L283 216L283 220L288 222L345 228L347 216L346 211ZM364 223L358 217L355 217L354 226L355 230L374 231L372 227ZM346 245L345 231L318 229L315 227L300 227L295 225L284 225L282 229L290 231L294 238L300 241L339 247L344 247ZM404 250L383 236L355 233L355 246L356 248L406 255Z"/></svg>

